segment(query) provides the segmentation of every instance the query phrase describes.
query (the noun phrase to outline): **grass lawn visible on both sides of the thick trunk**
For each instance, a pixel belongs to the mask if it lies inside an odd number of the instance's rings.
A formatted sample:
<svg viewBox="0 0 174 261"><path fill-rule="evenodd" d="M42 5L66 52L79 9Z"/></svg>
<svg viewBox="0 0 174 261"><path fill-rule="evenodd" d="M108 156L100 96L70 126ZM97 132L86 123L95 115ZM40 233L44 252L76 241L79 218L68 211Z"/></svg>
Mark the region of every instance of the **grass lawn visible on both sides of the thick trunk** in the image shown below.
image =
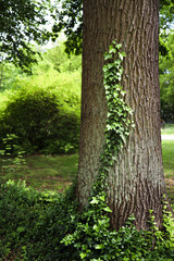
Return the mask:
<svg viewBox="0 0 174 261"><path fill-rule="evenodd" d="M174 134L174 124L166 124L162 134ZM174 140L162 141L163 166L167 194L174 204ZM63 192L78 170L78 154L71 156L29 156L22 170L4 173L0 167L2 182L8 179L26 181L27 186L37 190L50 189ZM0 166L4 163L0 160Z"/></svg>

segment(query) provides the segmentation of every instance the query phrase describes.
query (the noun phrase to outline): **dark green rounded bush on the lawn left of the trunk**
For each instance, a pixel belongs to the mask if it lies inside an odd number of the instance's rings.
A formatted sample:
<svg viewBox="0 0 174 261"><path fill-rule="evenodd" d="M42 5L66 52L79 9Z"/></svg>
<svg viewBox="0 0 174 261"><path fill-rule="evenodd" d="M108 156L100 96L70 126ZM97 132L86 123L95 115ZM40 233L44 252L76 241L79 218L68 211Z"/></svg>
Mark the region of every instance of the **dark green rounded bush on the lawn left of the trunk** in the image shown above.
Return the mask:
<svg viewBox="0 0 174 261"><path fill-rule="evenodd" d="M15 135L16 146L26 153L74 152L79 136L78 96L34 87L11 92L0 112L1 148L7 134Z"/></svg>

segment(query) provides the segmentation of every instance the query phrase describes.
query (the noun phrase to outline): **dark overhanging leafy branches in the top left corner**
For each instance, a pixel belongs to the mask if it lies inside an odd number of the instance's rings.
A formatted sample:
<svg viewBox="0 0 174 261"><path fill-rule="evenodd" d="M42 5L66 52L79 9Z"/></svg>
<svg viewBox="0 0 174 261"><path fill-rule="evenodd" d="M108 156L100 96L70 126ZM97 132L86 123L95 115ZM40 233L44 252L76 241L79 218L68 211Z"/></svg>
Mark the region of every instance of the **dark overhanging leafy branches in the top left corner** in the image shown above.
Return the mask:
<svg viewBox="0 0 174 261"><path fill-rule="evenodd" d="M37 61L30 42L42 45L53 37L48 30L50 0L0 0L1 61L13 62L22 69Z"/></svg>

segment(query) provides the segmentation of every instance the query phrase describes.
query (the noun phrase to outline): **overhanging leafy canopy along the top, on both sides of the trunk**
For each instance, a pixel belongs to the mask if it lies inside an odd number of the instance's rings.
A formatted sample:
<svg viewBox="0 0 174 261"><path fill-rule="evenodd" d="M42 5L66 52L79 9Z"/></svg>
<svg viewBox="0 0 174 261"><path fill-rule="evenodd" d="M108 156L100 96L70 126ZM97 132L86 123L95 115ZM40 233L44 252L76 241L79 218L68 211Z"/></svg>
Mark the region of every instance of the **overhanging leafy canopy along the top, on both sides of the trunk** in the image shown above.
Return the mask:
<svg viewBox="0 0 174 261"><path fill-rule="evenodd" d="M37 51L32 44L44 45L58 33L66 36L65 52L79 54L83 38L83 0L0 0L0 62L10 61L22 69L37 62ZM174 21L174 0L160 0L160 28ZM54 21L52 32L48 29L50 16ZM160 40L160 50L167 49Z"/></svg>

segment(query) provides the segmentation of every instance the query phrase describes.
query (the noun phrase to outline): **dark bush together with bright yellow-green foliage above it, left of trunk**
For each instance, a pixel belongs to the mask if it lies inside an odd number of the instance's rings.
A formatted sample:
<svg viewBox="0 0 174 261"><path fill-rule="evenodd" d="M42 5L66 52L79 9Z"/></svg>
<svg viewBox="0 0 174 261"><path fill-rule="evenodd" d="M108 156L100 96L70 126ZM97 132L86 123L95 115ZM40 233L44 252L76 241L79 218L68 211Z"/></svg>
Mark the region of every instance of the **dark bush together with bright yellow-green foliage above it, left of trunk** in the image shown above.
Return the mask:
<svg viewBox="0 0 174 261"><path fill-rule="evenodd" d="M27 153L78 148L80 63L80 57L67 59L63 44L58 42L33 65L33 75L5 64L0 94L1 146L7 134L14 134Z"/></svg>

